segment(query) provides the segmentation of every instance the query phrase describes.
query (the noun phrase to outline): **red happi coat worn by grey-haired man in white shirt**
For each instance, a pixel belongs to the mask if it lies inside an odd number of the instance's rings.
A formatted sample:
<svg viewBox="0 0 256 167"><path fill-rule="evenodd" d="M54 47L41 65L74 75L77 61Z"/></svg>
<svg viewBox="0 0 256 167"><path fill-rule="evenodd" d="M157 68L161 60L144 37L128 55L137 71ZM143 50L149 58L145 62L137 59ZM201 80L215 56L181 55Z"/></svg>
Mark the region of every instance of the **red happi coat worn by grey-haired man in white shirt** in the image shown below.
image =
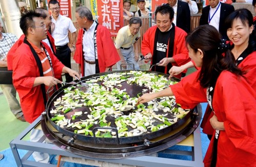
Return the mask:
<svg viewBox="0 0 256 167"><path fill-rule="evenodd" d="M82 37L83 29L78 32L76 41L76 51L74 60L81 66L81 74L84 76L84 56L82 51ZM97 51L99 71L105 72L106 67L115 65L119 60L119 54L116 50L113 40L111 39L110 32L106 27L98 24L96 33Z"/></svg>

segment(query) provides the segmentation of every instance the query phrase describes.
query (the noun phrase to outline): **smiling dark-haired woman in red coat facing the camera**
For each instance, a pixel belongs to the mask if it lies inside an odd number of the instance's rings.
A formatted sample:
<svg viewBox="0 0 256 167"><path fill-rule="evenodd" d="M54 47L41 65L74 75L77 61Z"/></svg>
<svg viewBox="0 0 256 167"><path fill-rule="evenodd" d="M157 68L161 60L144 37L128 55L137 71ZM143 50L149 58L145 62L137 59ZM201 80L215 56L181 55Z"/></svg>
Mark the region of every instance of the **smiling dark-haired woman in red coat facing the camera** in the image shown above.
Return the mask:
<svg viewBox="0 0 256 167"><path fill-rule="evenodd" d="M252 14L247 9L238 9L226 18L225 25L227 36L232 43L230 50L236 59L236 65L246 71L244 77L256 92L256 46L252 31ZM209 138L214 133L209 122L213 115L210 107L207 107L201 124L203 132L208 134Z"/></svg>

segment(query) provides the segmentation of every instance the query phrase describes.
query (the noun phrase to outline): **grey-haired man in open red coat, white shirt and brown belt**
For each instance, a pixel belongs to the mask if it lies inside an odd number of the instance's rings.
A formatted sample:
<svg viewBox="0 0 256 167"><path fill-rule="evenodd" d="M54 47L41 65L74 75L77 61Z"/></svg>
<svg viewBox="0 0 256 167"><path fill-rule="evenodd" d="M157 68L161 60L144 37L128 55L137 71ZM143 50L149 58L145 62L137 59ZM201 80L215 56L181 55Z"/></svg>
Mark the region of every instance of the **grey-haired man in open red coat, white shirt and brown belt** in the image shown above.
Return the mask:
<svg viewBox="0 0 256 167"><path fill-rule="evenodd" d="M78 32L74 60L82 76L111 70L120 57L106 27L93 20L86 7L76 9L76 20L82 29Z"/></svg>

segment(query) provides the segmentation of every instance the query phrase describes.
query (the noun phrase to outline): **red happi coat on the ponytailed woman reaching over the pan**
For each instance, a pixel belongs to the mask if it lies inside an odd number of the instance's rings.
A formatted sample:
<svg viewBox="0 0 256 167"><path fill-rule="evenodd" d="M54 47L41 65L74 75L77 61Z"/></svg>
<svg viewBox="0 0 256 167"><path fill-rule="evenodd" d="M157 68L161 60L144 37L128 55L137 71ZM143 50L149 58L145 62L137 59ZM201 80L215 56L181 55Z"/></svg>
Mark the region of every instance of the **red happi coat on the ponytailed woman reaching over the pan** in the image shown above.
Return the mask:
<svg viewBox="0 0 256 167"><path fill-rule="evenodd" d="M199 71L170 86L177 103L193 108L207 102L206 89L198 87ZM217 166L256 166L256 94L246 79L223 71L215 86L212 107L218 121L224 122L218 140ZM204 158L210 166L214 137Z"/></svg>

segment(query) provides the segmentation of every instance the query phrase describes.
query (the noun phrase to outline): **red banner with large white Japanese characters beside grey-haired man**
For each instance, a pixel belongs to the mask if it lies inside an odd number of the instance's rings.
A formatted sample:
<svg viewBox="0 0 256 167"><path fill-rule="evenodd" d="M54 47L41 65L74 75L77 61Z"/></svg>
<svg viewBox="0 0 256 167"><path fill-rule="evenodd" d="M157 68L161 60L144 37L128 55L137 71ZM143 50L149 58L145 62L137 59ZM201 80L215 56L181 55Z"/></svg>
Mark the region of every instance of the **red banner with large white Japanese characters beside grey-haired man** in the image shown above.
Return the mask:
<svg viewBox="0 0 256 167"><path fill-rule="evenodd" d="M109 29L112 37L123 26L123 3L121 0L97 0L98 22Z"/></svg>

